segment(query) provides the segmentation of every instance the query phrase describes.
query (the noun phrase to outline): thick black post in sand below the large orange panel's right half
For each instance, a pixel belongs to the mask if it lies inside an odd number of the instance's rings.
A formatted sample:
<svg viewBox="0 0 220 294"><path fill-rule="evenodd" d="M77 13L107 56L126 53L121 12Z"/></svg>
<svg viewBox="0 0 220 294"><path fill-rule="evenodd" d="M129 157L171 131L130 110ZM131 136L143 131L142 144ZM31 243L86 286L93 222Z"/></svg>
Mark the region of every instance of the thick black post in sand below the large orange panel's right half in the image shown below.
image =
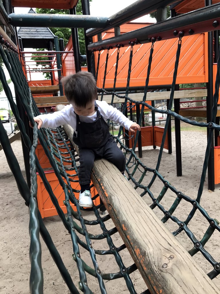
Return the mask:
<svg viewBox="0 0 220 294"><path fill-rule="evenodd" d="M179 110L180 110L180 99L174 99L174 111L179 114ZM178 118L174 118L174 123L175 123L175 144L176 144L177 177L180 177L180 176L182 176L182 154L181 154L180 120Z"/></svg>

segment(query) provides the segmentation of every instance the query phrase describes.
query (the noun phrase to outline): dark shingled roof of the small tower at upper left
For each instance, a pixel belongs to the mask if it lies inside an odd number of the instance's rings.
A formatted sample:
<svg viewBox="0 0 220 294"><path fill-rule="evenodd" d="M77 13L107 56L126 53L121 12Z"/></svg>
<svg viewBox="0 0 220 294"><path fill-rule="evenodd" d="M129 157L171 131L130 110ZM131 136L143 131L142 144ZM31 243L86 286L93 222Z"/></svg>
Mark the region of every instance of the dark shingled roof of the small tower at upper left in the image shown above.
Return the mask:
<svg viewBox="0 0 220 294"><path fill-rule="evenodd" d="M32 8L28 13L36 13ZM48 42L54 41L55 36L49 28L21 27L18 29L23 48L48 48Z"/></svg>

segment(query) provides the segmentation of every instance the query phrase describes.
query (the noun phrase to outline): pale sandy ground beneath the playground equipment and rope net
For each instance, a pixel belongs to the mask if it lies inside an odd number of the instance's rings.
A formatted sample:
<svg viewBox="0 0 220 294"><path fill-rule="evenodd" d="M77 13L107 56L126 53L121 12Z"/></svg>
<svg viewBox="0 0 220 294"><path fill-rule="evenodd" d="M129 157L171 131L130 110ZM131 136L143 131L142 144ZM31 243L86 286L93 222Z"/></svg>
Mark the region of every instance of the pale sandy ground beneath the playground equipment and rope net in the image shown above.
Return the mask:
<svg viewBox="0 0 220 294"><path fill-rule="evenodd" d="M202 165L204 160L204 153L206 148L206 133L198 131L182 131L182 177L176 176L176 159L175 159L175 136L172 132L172 144L173 153L169 155L167 151L163 152L163 158L160 165L160 173L167 179L177 190L182 191L191 198L196 198L200 176L202 172ZM23 175L25 176L23 155L21 152L21 141L17 140L12 143L13 151L18 159ZM155 150L152 147L143 148L143 158L141 161L149 166L155 167L159 148ZM3 151L0 151L0 293L22 293L28 294L29 292L29 274L30 274L30 261L29 261L29 215L28 208L21 198L16 182L13 178L9 166L7 164ZM136 173L137 177L140 175ZM147 184L151 178L151 174L147 175L143 181ZM159 180L155 181L151 191L154 195L158 195L161 191L162 185ZM207 189L207 180L205 182L201 205L209 213L209 216L220 220L220 202L219 191L220 184L216 185L215 191L211 192ZM150 204L151 201L148 196L144 196L145 201ZM175 194L167 191L164 199L161 203L166 209L169 209L175 200ZM175 211L174 215L180 220L185 220L189 214L192 206L186 201L181 201L180 206ZM158 210L154 210L156 214L161 218L162 213ZM87 219L94 219L92 213L84 212L83 215ZM65 230L62 222L57 216L44 219L45 226L51 234L53 242L55 243L63 262L68 269L75 285L77 286L79 281L78 270L75 261L72 259L72 242L70 235ZM177 225L168 221L167 227L173 231L177 229ZM189 228L195 234L199 240L203 237L204 232L207 230L209 224L207 220L201 215L196 213L193 220L189 223ZM109 220L106 222L108 229L113 228L114 225ZM94 226L87 226L87 230L90 233L101 233L100 228L94 228ZM112 236L114 244L119 246L122 244L121 238L118 234ZM177 236L177 239L189 250L192 248L192 243L188 239L185 233L181 233ZM214 232L211 239L206 244L205 248L213 256L214 259L220 261L220 242L219 233ZM70 293L65 285L53 259L50 256L48 249L46 248L43 240L42 245L42 267L44 274L44 293L54 294L67 294ZM105 240L93 241L93 246L96 249L107 249L107 243ZM80 248L81 257L85 262L92 266L91 258L84 249ZM123 250L120 253L122 260L126 266L132 264L132 259L127 250ZM202 269L208 273L212 270L211 265L205 260L201 254L194 256L196 262L202 267ZM118 272L119 268L116 265L114 257L104 255L97 256L99 267L104 273ZM101 293L97 280L90 277L87 274L88 285L93 293ZM145 283L140 274L136 271L131 274L132 281L137 293L142 293L146 290ZM214 283L220 287L220 278L215 278ZM110 294L114 293L129 293L125 281L123 279L107 281L105 282L106 290ZM220 293L220 292L219 292Z"/></svg>

